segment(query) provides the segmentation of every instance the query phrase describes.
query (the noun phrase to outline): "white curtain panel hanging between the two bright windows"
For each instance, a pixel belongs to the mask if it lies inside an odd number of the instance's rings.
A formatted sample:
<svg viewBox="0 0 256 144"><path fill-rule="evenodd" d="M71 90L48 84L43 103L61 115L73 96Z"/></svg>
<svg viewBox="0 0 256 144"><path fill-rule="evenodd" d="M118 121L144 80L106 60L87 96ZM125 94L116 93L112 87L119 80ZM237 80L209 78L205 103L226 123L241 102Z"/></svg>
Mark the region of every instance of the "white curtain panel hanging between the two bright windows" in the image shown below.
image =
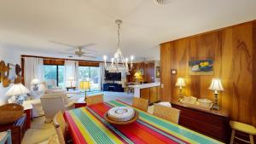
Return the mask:
<svg viewBox="0 0 256 144"><path fill-rule="evenodd" d="M79 87L79 61L65 60L64 87Z"/></svg>

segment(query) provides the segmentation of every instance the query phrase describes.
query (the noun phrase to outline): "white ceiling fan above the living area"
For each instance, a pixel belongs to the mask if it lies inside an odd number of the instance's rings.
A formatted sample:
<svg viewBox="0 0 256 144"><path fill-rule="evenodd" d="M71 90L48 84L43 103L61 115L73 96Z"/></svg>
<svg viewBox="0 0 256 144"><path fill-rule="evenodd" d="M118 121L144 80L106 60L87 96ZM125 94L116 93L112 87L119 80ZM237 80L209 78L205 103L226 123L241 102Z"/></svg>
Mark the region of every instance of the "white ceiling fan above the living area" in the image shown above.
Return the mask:
<svg viewBox="0 0 256 144"><path fill-rule="evenodd" d="M71 45L71 44L67 44L67 43L60 43L60 42L55 42L55 41L50 41L50 42L65 45L67 47L73 48L73 49L67 49L67 51L75 50L74 53L61 52L61 54L77 55L79 57L86 57L86 58L96 59L96 55L95 55L96 50L87 48L87 47L96 45L96 43L87 43L87 44L84 44L84 45L75 46L75 45ZM85 51L83 51L83 49Z"/></svg>

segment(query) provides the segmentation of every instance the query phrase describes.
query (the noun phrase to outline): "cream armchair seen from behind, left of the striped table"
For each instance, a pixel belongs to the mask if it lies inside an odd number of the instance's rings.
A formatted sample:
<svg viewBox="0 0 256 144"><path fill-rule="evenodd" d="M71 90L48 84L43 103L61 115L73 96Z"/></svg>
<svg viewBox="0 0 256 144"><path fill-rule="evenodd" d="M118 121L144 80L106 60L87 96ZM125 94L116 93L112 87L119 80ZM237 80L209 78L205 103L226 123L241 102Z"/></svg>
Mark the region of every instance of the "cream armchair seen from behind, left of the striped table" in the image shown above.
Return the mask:
<svg viewBox="0 0 256 144"><path fill-rule="evenodd" d="M49 123L57 112L74 108L74 101L68 101L68 97L64 93L45 94L40 99L44 110L45 123Z"/></svg>

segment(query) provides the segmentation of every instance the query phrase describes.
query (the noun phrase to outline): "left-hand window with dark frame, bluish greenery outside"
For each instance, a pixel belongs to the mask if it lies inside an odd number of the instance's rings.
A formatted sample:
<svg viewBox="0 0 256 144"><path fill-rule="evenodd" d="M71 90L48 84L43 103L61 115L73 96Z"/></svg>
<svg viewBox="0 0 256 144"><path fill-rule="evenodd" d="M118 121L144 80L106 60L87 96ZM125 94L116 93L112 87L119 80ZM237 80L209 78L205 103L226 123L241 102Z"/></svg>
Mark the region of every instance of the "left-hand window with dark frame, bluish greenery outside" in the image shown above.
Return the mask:
<svg viewBox="0 0 256 144"><path fill-rule="evenodd" d="M54 79L57 86L64 88L64 66L44 65L44 79Z"/></svg>

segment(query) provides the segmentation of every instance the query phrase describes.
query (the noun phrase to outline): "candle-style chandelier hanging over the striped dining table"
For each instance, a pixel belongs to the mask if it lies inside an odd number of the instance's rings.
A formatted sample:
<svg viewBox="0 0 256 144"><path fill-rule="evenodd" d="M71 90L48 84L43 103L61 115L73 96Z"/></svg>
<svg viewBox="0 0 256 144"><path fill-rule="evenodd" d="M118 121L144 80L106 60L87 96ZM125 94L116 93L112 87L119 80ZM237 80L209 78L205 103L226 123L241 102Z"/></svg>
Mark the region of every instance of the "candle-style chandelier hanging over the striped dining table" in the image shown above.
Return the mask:
<svg viewBox="0 0 256 144"><path fill-rule="evenodd" d="M120 25L122 24L122 20L115 20L115 23L118 25L118 44L117 44L117 50L113 55L113 58L111 59L111 64L107 65L107 55L103 55L103 59L105 61L105 70L108 72L126 72L129 73L132 69L132 60L134 59L133 55L131 55L130 58L130 68L128 66L129 59L125 58L122 54L121 48L120 48Z"/></svg>

